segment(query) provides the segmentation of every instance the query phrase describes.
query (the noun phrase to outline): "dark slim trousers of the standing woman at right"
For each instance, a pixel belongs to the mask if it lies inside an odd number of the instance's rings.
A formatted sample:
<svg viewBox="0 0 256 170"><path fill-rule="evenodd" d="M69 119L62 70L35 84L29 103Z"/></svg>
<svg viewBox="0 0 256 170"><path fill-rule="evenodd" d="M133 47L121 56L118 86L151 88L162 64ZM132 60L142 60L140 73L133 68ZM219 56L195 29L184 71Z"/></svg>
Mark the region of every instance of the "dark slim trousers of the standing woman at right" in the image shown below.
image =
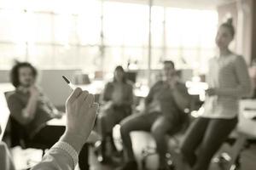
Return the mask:
<svg viewBox="0 0 256 170"><path fill-rule="evenodd" d="M181 147L183 159L193 170L207 170L212 156L236 127L237 118L197 118L189 127Z"/></svg>

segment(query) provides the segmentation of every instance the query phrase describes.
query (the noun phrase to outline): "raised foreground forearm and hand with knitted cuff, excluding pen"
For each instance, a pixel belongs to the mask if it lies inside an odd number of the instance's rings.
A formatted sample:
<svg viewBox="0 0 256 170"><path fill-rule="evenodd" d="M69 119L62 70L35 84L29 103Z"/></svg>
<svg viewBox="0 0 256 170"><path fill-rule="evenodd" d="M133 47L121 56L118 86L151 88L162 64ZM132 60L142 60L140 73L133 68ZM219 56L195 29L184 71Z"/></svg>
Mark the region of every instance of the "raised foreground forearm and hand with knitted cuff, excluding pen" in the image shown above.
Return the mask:
<svg viewBox="0 0 256 170"><path fill-rule="evenodd" d="M76 88L67 99L66 108L66 132L32 170L73 170L76 167L79 151L94 127L98 105L92 94Z"/></svg>

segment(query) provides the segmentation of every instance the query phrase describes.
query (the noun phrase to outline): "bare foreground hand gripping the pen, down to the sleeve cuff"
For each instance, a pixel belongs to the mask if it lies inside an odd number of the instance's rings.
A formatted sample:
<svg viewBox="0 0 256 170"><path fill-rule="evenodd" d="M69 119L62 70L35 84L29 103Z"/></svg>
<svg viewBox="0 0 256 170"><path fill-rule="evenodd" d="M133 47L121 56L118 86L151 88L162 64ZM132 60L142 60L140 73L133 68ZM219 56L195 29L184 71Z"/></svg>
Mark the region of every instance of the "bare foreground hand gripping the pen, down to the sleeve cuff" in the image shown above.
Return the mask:
<svg viewBox="0 0 256 170"><path fill-rule="evenodd" d="M63 140L81 150L89 137L96 121L99 105L94 103L94 96L81 88L76 88L66 102L67 127Z"/></svg>

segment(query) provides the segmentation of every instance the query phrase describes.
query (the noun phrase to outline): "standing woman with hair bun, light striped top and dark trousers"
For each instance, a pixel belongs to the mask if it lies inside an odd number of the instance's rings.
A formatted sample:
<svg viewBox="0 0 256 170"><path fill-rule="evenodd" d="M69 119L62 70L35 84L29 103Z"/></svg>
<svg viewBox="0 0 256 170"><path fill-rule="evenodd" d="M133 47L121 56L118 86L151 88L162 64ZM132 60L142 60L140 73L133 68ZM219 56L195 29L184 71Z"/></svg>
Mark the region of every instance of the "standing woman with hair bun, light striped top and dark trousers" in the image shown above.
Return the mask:
<svg viewBox="0 0 256 170"><path fill-rule="evenodd" d="M188 169L207 170L212 156L236 127L238 102L251 91L245 60L230 51L232 20L218 28L218 55L209 62L207 98L201 116L191 124L181 147Z"/></svg>

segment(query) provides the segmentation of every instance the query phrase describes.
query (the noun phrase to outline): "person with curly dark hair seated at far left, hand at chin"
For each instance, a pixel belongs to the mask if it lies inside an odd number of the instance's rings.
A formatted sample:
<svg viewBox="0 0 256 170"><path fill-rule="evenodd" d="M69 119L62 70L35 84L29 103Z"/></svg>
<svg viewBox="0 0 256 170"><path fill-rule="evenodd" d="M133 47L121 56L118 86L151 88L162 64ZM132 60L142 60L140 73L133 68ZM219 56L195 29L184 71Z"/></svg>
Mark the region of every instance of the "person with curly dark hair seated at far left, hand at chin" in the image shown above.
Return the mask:
<svg viewBox="0 0 256 170"><path fill-rule="evenodd" d="M50 148L60 139L65 127L46 126L49 120L60 117L60 112L35 86L37 70L29 63L18 63L11 70L10 76L16 88L8 98L11 116L24 127L27 139ZM87 148L84 147L79 156L80 169L88 169L84 161L86 158Z"/></svg>

